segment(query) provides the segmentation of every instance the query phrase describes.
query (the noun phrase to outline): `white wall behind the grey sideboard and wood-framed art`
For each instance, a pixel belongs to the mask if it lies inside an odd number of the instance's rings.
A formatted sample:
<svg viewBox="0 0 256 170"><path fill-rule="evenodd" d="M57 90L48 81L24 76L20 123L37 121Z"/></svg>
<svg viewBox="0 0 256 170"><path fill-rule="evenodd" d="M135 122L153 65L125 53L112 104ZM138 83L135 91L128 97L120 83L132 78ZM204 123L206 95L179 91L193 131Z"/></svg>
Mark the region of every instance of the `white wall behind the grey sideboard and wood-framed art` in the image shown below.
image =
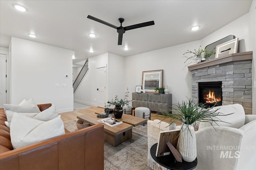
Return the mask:
<svg viewBox="0 0 256 170"><path fill-rule="evenodd" d="M172 94L172 104L177 104L192 96L191 72L183 54L186 50L198 49L200 41L193 41L181 45L158 49L125 58L125 85L135 92L135 86L142 85L142 72L150 70L164 70L163 86L168 85ZM130 95L130 100L132 96Z"/></svg>

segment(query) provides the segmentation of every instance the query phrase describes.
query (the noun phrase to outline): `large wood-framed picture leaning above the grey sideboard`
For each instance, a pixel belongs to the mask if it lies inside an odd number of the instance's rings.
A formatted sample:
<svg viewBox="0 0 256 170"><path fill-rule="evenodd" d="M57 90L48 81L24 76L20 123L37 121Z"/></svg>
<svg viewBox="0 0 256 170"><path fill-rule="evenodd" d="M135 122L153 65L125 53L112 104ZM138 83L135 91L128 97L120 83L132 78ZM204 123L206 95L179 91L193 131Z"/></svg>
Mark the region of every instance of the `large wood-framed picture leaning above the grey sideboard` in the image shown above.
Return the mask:
<svg viewBox="0 0 256 170"><path fill-rule="evenodd" d="M143 71L142 89L148 93L155 93L155 88L162 87L163 70Z"/></svg>

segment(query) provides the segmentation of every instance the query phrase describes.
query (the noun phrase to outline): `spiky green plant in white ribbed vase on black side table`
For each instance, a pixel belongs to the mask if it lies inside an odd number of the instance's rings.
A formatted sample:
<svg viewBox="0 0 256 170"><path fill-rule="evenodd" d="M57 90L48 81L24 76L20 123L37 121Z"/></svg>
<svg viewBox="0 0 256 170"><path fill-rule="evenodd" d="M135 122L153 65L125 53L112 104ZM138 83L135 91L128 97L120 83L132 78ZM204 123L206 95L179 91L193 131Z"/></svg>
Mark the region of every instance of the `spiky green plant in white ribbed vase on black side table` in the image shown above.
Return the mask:
<svg viewBox="0 0 256 170"><path fill-rule="evenodd" d="M196 124L196 121L209 122L212 126L213 123L218 125L217 122L221 120L216 116L224 116L224 114L218 112L218 109L206 107L205 104L195 104L191 99L185 102L182 101L182 104L178 103L178 105L174 106L177 108L172 109L171 113L162 111L158 113L160 114L158 116L163 117L162 120L171 118L170 125L176 121L182 122L177 149L182 155L183 160L193 162L196 159L196 135L193 125ZM215 118L213 119L213 117Z"/></svg>

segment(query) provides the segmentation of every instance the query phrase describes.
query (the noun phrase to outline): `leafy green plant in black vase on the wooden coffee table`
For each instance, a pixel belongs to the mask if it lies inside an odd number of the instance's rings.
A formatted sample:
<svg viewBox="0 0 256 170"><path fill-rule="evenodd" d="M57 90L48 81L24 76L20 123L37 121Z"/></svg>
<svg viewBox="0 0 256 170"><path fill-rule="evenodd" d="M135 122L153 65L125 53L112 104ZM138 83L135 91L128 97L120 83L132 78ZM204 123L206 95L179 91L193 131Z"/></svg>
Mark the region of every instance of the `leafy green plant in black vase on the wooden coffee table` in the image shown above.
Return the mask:
<svg viewBox="0 0 256 170"><path fill-rule="evenodd" d="M127 107L131 107L129 105L129 102L133 102L134 100L128 100L128 94L129 94L129 90L127 88L127 92L125 92L125 96L124 99L119 99L118 96L116 95L116 97L110 101L108 101L107 105L105 107L110 107L110 106L115 106L114 108L114 115L116 119L121 119L122 115L123 115L123 107L127 106Z"/></svg>

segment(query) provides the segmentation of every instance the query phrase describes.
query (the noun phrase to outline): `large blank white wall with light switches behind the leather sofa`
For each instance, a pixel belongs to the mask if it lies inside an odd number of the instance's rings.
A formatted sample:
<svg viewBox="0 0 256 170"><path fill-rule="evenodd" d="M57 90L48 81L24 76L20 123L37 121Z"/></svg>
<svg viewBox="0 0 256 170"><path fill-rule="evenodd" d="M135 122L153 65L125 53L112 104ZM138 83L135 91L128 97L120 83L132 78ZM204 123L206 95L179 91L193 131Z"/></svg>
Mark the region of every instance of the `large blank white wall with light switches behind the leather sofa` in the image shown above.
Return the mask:
<svg viewBox="0 0 256 170"><path fill-rule="evenodd" d="M30 98L55 104L58 113L73 111L72 51L12 37L11 103Z"/></svg>

